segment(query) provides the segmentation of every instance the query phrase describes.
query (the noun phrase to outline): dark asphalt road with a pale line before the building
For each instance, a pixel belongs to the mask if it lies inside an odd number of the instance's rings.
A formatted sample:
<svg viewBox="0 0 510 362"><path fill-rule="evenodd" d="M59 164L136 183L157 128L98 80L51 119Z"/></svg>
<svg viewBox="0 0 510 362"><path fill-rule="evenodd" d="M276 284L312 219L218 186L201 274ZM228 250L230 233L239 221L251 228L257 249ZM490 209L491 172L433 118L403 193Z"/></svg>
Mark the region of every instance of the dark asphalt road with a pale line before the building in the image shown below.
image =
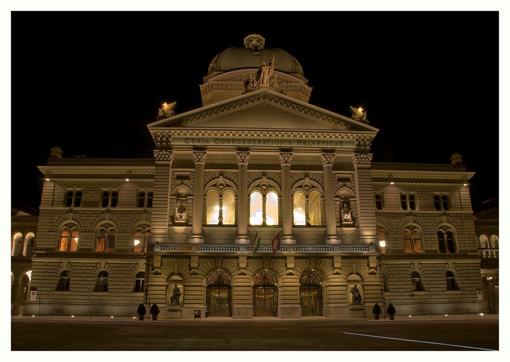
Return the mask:
<svg viewBox="0 0 510 362"><path fill-rule="evenodd" d="M286 321L279 323L126 323L12 320L11 349L13 351L476 351L498 350L498 331L497 320L388 321L383 323L328 321L317 323Z"/></svg>

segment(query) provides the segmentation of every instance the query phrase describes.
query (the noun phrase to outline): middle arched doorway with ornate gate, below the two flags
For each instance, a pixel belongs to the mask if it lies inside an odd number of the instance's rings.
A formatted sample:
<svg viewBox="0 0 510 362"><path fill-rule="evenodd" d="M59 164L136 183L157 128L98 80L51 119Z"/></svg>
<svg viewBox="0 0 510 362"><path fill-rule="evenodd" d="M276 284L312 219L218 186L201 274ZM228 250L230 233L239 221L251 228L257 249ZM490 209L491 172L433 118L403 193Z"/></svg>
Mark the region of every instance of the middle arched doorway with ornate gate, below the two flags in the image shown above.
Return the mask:
<svg viewBox="0 0 510 362"><path fill-rule="evenodd" d="M276 277L261 271L253 277L253 317L278 316L278 287Z"/></svg>

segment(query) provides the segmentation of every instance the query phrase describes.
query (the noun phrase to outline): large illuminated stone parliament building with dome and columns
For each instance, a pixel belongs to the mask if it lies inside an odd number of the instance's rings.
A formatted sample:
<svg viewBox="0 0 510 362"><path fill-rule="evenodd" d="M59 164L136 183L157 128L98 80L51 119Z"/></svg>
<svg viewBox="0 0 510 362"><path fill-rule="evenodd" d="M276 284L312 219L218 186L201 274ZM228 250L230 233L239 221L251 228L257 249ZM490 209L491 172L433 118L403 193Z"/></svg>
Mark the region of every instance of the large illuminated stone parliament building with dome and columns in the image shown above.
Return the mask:
<svg viewBox="0 0 510 362"><path fill-rule="evenodd" d="M311 105L298 60L264 43L250 34L214 57L202 107L162 106L148 124L154 158L52 148L38 215L12 216L13 314L489 311L460 155L372 162L367 114Z"/></svg>

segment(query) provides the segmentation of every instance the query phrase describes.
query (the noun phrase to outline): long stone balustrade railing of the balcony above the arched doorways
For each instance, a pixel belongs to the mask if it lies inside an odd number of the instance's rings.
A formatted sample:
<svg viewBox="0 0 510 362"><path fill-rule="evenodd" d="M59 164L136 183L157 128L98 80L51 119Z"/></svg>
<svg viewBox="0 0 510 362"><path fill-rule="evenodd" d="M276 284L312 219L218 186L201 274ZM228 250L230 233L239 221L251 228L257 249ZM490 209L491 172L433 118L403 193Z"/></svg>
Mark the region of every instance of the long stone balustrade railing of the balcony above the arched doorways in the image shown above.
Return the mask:
<svg viewBox="0 0 510 362"><path fill-rule="evenodd" d="M251 253L251 244L154 244L154 251L183 253ZM271 245L261 245L258 254L272 253ZM375 252L373 244L356 245L281 245L276 254L284 253L369 253Z"/></svg>

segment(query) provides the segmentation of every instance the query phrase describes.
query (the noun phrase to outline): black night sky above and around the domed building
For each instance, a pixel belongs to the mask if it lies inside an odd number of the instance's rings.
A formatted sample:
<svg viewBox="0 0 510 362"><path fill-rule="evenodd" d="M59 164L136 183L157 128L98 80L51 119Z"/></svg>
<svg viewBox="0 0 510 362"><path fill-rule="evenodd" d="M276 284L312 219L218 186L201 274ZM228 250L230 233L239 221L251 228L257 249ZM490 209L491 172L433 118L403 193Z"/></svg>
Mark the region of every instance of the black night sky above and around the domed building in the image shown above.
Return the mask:
<svg viewBox="0 0 510 362"><path fill-rule="evenodd" d="M262 20L261 20L262 19ZM463 155L473 206L498 196L497 12L13 12L11 193L38 208L51 147L151 158L163 101L201 106L210 61L260 33L299 60L310 103L379 128L373 161ZM277 64L276 64L277 68Z"/></svg>

